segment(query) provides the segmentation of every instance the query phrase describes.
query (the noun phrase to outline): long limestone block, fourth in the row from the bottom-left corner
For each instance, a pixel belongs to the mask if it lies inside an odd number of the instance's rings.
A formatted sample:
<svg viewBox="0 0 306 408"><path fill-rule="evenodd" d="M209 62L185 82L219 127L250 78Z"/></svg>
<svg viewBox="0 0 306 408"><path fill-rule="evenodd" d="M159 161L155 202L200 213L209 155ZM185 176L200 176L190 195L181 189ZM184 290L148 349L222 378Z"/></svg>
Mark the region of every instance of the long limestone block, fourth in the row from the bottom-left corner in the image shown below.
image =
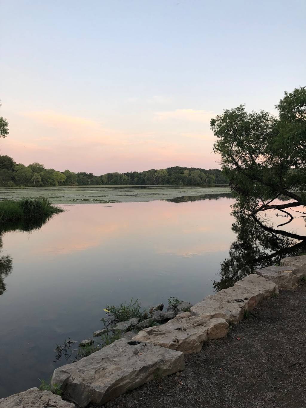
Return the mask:
<svg viewBox="0 0 306 408"><path fill-rule="evenodd" d="M219 317L229 323L239 323L246 310L253 310L264 298L278 293L275 283L259 275L248 275L231 288L222 289L195 304L190 313L193 316L212 319Z"/></svg>

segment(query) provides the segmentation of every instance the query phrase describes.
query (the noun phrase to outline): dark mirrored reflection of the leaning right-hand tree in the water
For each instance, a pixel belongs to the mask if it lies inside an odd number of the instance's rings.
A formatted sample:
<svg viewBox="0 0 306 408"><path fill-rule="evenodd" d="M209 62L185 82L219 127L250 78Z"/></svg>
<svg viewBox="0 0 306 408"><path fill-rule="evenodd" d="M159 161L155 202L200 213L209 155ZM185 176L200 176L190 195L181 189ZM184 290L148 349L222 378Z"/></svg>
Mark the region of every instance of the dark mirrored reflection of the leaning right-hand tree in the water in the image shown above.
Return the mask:
<svg viewBox="0 0 306 408"><path fill-rule="evenodd" d="M271 222L250 215L237 203L232 214L235 216L232 230L237 239L231 244L229 257L221 264L221 278L214 282L215 290L232 286L256 268L279 264L286 256L305 252L306 236L273 228Z"/></svg>

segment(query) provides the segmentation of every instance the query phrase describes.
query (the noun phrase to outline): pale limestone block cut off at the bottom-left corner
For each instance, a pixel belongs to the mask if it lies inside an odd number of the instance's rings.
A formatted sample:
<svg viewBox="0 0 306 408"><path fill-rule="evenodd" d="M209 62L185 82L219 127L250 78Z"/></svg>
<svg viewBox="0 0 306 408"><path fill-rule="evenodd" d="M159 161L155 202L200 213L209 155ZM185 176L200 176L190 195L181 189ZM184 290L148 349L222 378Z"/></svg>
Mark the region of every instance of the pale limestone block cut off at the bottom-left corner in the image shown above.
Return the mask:
<svg viewBox="0 0 306 408"><path fill-rule="evenodd" d="M71 402L63 401L59 395L51 391L30 388L27 391L0 399L0 408L75 408Z"/></svg>

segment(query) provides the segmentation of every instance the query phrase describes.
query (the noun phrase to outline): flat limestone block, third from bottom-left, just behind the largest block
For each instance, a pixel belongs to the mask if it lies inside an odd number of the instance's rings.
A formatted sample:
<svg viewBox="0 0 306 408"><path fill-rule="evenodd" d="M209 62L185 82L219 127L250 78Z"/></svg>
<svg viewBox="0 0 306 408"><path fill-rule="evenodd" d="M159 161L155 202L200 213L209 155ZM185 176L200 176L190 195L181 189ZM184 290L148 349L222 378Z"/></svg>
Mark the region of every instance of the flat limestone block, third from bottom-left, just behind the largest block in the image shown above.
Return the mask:
<svg viewBox="0 0 306 408"><path fill-rule="evenodd" d="M199 352L204 341L208 339L219 339L227 335L228 323L224 319L209 320L191 316L190 313L182 315L177 315L162 326L153 326L140 331L133 340L187 354Z"/></svg>

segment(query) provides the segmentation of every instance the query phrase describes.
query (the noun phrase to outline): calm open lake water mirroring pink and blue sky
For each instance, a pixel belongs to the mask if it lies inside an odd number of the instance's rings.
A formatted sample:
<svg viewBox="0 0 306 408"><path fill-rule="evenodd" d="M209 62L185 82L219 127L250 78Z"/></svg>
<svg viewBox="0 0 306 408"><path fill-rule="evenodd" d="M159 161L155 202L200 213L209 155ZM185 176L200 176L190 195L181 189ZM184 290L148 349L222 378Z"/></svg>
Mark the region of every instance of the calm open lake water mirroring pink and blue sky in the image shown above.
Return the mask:
<svg viewBox="0 0 306 408"><path fill-rule="evenodd" d="M233 200L212 194L62 205L39 231L5 233L1 255L13 268L0 296L0 397L49 379L65 363L54 362L55 344L91 337L106 304L212 293L234 239Z"/></svg>

